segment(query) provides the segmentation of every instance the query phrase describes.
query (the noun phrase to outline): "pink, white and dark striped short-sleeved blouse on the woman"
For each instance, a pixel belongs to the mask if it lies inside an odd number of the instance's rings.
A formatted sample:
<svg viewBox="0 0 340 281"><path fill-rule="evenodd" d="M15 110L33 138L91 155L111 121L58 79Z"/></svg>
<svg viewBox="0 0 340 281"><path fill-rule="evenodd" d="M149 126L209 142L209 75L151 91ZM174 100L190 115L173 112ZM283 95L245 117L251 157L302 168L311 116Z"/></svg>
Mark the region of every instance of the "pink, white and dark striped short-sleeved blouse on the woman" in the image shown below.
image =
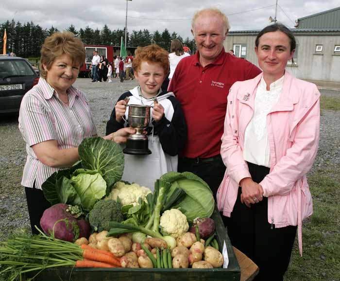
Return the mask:
<svg viewBox="0 0 340 281"><path fill-rule="evenodd" d="M41 189L42 183L60 168L41 163L32 145L57 140L59 149L78 147L86 137L97 135L85 94L70 87L68 105L65 105L44 78L22 99L19 112L19 130L26 142L27 159L21 184Z"/></svg>

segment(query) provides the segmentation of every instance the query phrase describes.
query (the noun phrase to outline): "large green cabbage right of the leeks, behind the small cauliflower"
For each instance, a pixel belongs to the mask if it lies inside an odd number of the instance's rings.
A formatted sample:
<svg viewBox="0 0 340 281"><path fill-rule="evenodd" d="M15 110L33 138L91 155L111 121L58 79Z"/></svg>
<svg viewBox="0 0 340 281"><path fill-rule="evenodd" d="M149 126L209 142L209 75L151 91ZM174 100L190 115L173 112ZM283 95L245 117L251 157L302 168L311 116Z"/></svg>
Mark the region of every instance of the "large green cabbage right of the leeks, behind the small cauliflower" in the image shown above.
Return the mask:
<svg viewBox="0 0 340 281"><path fill-rule="evenodd" d="M214 211L215 200L208 184L199 176L190 172L169 172L161 176L161 180L171 183L168 197L180 187L186 195L174 202L171 208L179 209L186 216L188 222L197 217L210 217Z"/></svg>

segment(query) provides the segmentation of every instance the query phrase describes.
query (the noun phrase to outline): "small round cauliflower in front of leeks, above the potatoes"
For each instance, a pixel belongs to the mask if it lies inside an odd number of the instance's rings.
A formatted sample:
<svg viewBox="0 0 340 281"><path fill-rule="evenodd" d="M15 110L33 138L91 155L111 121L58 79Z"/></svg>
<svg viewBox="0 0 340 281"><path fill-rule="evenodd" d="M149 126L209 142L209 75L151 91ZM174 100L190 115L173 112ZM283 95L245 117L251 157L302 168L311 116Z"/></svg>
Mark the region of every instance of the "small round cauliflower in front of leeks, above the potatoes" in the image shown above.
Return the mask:
<svg viewBox="0 0 340 281"><path fill-rule="evenodd" d="M166 233L173 238L183 235L189 229L186 215L177 209L165 211L161 216L159 225L163 234Z"/></svg>

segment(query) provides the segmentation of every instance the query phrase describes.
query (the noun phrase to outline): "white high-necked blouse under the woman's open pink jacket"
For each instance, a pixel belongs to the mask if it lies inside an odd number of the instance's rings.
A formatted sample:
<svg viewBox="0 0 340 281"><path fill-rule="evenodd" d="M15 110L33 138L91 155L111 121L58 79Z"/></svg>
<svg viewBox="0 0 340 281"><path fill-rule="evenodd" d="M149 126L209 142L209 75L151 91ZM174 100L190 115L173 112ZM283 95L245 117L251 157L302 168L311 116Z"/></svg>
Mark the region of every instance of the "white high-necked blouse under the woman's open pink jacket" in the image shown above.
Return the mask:
<svg viewBox="0 0 340 281"><path fill-rule="evenodd" d="M270 85L263 77L255 94L254 115L244 133L243 158L256 165L270 167L270 149L267 132L267 114L277 103L283 88L284 75Z"/></svg>

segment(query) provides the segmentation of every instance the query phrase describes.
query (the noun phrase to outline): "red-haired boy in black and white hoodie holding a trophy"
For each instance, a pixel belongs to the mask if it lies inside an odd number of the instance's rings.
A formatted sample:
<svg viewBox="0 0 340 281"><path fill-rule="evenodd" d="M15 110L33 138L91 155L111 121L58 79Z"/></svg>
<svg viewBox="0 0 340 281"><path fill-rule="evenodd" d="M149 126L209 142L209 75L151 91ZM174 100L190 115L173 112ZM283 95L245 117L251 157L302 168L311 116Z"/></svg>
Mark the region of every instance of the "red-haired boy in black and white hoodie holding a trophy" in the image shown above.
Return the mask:
<svg viewBox="0 0 340 281"><path fill-rule="evenodd" d="M169 71L169 53L157 45L136 50L132 63L139 86L122 94L110 120L106 124L106 135L116 132L128 120L128 104L153 105L152 121L146 129L149 136L150 155L125 154L122 179L136 182L153 190L157 178L169 171L177 171L178 154L187 139L187 125L182 107L172 92L162 91L162 83ZM157 102L154 102L157 98Z"/></svg>

